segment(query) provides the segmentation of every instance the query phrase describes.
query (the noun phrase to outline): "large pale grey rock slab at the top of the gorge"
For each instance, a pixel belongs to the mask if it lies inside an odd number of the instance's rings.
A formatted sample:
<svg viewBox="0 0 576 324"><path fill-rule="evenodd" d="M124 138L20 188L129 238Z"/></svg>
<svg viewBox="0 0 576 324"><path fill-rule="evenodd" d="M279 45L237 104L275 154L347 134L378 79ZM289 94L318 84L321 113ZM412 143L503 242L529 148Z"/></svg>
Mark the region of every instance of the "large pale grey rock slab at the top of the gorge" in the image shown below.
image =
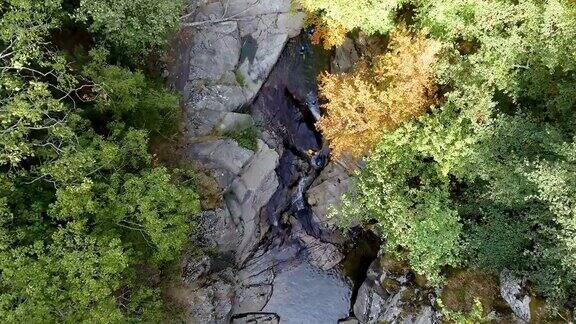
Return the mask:
<svg viewBox="0 0 576 324"><path fill-rule="evenodd" d="M221 0L190 8L184 28L193 37L181 49L189 59L183 89L189 137L209 134L225 112L256 96L302 27L303 13L290 7L290 0Z"/></svg>

